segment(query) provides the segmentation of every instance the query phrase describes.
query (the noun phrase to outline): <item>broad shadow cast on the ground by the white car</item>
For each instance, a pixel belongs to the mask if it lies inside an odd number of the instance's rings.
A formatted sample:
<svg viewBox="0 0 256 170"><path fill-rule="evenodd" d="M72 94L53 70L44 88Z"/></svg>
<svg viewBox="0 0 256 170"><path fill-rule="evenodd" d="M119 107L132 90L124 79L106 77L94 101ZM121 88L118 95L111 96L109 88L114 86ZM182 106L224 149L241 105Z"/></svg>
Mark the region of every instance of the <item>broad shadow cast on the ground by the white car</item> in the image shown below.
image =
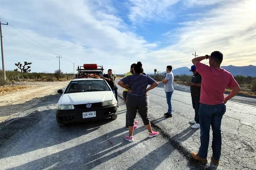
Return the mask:
<svg viewBox="0 0 256 170"><path fill-rule="evenodd" d="M104 119L59 128L55 120L55 109L49 109L52 106L47 108L49 105L56 104L58 99L59 94L33 99L29 103L38 103L37 107L46 106L46 108L0 124L0 159L65 143L82 135L88 135L102 125L113 121ZM13 107L18 108L19 105Z"/></svg>

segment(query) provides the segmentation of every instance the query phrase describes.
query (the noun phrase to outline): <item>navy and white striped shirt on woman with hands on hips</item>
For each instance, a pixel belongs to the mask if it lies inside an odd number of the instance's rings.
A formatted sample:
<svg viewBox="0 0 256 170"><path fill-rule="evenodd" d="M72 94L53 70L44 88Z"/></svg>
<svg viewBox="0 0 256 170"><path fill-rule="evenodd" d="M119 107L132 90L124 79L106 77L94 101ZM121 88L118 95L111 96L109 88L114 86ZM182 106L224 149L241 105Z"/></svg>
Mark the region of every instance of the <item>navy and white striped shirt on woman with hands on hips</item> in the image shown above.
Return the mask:
<svg viewBox="0 0 256 170"><path fill-rule="evenodd" d="M147 85L152 85L156 82L153 78L143 74L129 75L121 79L121 81L123 82L123 84L129 84L131 93L128 94L134 96L145 96Z"/></svg>

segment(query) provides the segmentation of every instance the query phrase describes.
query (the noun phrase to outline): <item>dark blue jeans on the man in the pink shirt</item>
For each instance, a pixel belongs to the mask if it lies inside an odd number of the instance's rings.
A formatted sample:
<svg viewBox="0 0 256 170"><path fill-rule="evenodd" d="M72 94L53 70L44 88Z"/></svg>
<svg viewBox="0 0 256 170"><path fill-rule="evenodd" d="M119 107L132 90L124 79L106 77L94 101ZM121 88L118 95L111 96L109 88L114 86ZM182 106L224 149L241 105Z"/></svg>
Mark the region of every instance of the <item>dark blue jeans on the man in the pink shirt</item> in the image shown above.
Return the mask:
<svg viewBox="0 0 256 170"><path fill-rule="evenodd" d="M198 151L198 156L200 158L207 158L210 138L210 126L213 130L213 142L211 145L211 148L213 150L213 159L219 160L219 158L221 157L221 120L225 112L225 104L200 104L199 122L201 146Z"/></svg>

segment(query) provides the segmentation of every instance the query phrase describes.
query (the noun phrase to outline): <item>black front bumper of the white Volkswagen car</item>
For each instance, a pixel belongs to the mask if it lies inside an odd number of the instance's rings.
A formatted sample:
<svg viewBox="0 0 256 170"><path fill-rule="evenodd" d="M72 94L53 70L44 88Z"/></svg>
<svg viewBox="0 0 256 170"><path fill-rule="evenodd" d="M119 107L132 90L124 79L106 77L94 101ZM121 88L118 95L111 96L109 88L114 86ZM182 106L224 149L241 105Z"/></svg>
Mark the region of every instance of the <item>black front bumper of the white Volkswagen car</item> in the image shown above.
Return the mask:
<svg viewBox="0 0 256 170"><path fill-rule="evenodd" d="M74 105L75 106L75 105ZM83 112L96 111L96 117L83 118ZM77 108L72 110L58 110L56 109L56 120L58 123L74 123L74 122L86 122L90 120L100 120L109 118L111 115L117 114L117 104L109 106L100 106L94 108Z"/></svg>

